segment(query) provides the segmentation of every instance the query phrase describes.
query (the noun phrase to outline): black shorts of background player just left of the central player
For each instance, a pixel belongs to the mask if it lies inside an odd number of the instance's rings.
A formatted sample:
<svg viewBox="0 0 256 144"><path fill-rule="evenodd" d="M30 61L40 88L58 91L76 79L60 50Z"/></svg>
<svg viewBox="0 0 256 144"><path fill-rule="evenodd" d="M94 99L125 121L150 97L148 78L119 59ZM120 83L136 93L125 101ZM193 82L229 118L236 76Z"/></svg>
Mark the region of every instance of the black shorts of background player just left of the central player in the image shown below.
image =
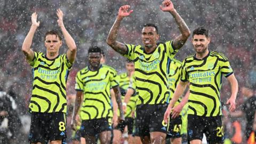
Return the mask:
<svg viewBox="0 0 256 144"><path fill-rule="evenodd" d="M128 134L132 134L133 124L134 124L134 118L125 117L125 121L119 122L118 125L115 127L115 130L119 130L123 133L124 127L127 125Z"/></svg>

